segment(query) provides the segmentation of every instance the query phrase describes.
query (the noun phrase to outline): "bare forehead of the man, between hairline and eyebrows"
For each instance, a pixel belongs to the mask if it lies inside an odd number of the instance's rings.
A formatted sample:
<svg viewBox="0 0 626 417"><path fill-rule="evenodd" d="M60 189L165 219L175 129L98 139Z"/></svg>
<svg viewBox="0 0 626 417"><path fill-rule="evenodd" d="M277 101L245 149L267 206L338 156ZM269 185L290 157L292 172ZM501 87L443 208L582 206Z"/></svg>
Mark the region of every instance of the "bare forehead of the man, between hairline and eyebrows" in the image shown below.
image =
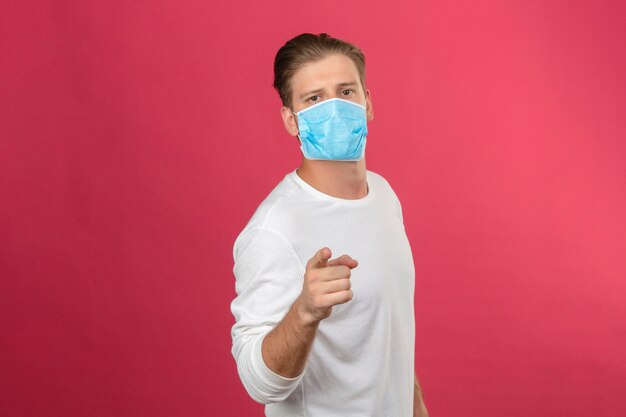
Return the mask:
<svg viewBox="0 0 626 417"><path fill-rule="evenodd" d="M343 54L333 54L298 68L291 78L291 89L297 96L303 91L358 81L359 71L354 62Z"/></svg>

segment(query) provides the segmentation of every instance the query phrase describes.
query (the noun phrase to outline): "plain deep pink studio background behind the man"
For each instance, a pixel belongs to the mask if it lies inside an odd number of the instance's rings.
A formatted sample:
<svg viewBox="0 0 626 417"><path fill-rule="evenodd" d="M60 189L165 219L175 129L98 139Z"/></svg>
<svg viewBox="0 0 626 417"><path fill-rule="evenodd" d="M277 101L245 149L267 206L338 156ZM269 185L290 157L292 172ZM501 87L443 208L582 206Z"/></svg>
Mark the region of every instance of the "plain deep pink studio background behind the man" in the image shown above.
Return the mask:
<svg viewBox="0 0 626 417"><path fill-rule="evenodd" d="M431 415L625 415L624 2L2 9L0 415L262 415L232 244L300 161L274 54L323 31L368 60Z"/></svg>

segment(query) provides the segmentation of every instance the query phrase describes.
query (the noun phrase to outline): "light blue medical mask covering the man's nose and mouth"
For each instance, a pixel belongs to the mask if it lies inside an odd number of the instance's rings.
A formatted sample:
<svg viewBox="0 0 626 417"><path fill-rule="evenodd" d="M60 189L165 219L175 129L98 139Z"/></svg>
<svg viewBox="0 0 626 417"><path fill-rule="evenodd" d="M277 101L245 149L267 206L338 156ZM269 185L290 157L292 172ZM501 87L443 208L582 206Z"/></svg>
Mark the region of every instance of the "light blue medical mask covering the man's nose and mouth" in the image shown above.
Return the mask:
<svg viewBox="0 0 626 417"><path fill-rule="evenodd" d="M307 159L358 161L365 154L365 107L340 98L314 104L298 113L300 149Z"/></svg>

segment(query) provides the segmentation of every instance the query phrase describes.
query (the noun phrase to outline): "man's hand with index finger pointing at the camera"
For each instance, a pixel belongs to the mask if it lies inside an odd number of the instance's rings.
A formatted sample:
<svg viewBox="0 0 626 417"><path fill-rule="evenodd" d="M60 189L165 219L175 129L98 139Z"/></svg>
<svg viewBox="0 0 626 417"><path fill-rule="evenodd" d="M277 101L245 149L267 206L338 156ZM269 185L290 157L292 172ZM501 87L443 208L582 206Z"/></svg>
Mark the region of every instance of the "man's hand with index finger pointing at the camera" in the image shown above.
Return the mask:
<svg viewBox="0 0 626 417"><path fill-rule="evenodd" d="M330 249L322 248L306 264L298 305L307 324L327 318L333 306L352 300L350 275L358 262L348 255L332 260L331 256Z"/></svg>

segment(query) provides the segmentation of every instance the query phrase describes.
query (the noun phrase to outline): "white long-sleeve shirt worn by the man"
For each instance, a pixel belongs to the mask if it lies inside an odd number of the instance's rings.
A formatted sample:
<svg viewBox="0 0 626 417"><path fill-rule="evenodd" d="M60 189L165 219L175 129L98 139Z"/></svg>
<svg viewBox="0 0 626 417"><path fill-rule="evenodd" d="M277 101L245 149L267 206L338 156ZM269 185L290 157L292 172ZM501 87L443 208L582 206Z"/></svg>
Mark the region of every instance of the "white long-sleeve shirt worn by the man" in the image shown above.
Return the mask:
<svg viewBox="0 0 626 417"><path fill-rule="evenodd" d="M269 417L410 417L413 414L413 258L395 193L367 171L368 195L326 195L289 173L235 241L232 353L250 396ZM305 370L272 372L261 344L302 291L322 247L358 260L354 297L321 321Z"/></svg>

